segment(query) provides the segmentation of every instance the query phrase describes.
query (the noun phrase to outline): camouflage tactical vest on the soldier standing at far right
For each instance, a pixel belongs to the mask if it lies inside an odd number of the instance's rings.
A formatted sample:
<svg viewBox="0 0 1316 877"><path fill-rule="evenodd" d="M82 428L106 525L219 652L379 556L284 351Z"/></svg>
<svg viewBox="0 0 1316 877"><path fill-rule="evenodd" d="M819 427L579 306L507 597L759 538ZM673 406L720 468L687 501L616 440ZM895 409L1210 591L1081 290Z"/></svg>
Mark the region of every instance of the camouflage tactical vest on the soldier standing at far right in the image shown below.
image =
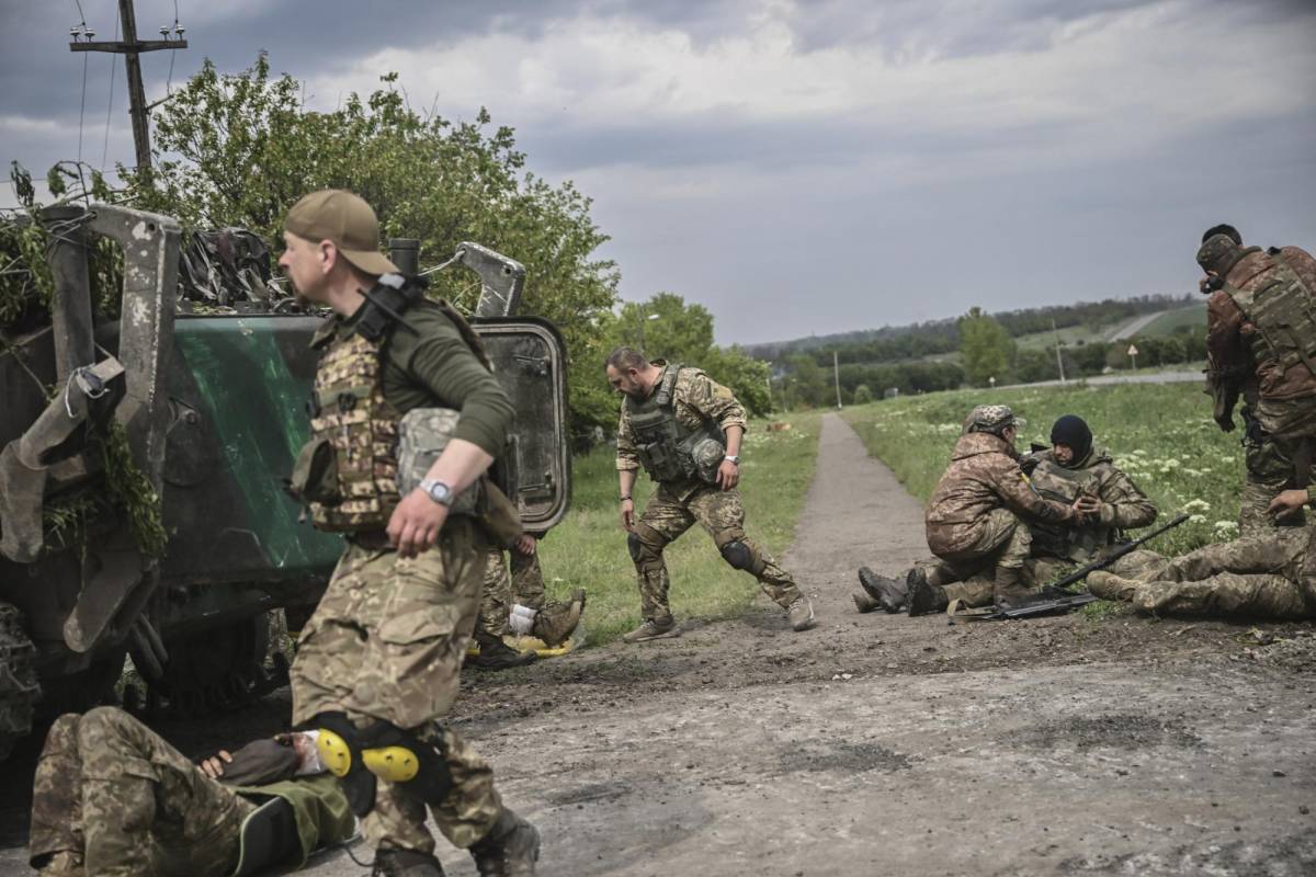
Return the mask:
<svg viewBox="0 0 1316 877"><path fill-rule="evenodd" d="M1279 254L1271 254L1270 277L1255 289L1225 284L1224 291L1255 326L1249 335L1253 362L1278 362L1282 372L1304 366L1316 377L1316 309L1312 291Z"/></svg>

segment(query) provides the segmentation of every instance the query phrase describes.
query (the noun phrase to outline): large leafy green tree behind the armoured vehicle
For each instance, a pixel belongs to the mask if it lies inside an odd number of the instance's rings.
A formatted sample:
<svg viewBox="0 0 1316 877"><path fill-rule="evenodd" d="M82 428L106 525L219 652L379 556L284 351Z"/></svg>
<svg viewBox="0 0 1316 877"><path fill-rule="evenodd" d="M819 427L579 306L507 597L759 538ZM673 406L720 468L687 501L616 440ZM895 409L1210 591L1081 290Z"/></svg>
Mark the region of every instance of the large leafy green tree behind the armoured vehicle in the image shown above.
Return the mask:
<svg viewBox="0 0 1316 877"><path fill-rule="evenodd" d="M283 249L282 222L307 192L351 189L379 216L382 234L420 238L422 267L475 241L525 264L522 313L557 323L570 356L574 431L612 423L600 385L603 333L617 270L595 252L608 238L591 201L571 183L550 185L525 170L513 130L483 108L472 122L413 110L396 74L367 97L308 112L301 83L271 79L262 53L237 75L201 71L157 110L157 167L129 179L136 204L187 227L242 226ZM434 295L470 310L479 284L463 271L432 276Z"/></svg>

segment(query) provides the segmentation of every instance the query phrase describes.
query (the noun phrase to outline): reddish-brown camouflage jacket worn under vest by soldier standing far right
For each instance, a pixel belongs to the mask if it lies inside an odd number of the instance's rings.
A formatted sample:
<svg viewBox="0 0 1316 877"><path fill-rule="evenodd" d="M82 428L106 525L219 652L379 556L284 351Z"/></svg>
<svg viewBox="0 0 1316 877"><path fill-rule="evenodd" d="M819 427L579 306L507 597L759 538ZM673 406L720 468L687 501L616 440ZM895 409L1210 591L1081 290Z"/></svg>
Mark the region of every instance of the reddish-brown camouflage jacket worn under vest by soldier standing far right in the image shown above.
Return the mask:
<svg viewBox="0 0 1316 877"><path fill-rule="evenodd" d="M1303 284L1316 291L1316 259L1299 247L1280 247L1279 254ZM1273 271L1273 258L1265 250L1254 250L1229 270L1225 283L1253 291L1269 280ZM1305 368L1283 371L1274 362L1253 362L1248 342L1252 331L1228 292L1211 293L1207 300L1207 391L1216 400L1216 419L1232 414L1240 393L1249 404L1255 404L1255 396L1286 400L1316 394L1316 377Z"/></svg>

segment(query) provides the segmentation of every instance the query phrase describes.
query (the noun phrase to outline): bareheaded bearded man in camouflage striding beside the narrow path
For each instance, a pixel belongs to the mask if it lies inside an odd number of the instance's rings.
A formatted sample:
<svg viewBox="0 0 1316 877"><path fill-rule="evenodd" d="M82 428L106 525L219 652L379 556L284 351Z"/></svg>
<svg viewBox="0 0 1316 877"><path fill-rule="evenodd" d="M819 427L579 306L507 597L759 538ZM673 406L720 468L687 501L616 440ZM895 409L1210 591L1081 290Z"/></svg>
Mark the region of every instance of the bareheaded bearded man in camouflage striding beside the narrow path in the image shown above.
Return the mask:
<svg viewBox="0 0 1316 877"><path fill-rule="evenodd" d="M650 363L629 347L615 350L605 371L608 383L622 394L617 426L621 526L629 534L644 617L622 639L638 643L680 635L667 605L662 552L695 522L713 538L726 563L754 576L763 593L786 610L791 627L812 627L808 598L790 573L745 535L745 506L736 490L745 409L732 392L697 368L662 359ZM630 490L641 465L658 489L637 521Z"/></svg>

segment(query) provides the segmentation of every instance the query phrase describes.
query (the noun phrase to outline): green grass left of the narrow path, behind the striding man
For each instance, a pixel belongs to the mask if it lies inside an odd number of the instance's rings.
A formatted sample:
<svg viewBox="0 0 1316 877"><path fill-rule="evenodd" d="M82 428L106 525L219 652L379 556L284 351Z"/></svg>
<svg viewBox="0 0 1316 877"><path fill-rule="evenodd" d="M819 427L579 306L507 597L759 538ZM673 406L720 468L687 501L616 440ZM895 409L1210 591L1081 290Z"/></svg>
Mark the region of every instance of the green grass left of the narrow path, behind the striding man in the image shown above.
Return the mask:
<svg viewBox="0 0 1316 877"><path fill-rule="evenodd" d="M820 417L784 417L792 429L767 433L766 421L753 421L745 435L740 490L745 497L745 530L771 555L780 557L795 535L804 494L813 477ZM588 644L611 642L640 623L640 592L626 552L617 504L616 452L603 447L576 458L571 511L541 543L549 592L562 598L584 588ZM641 475L636 509L642 510L653 484ZM730 618L754 601L758 582L722 561L712 539L696 523L667 547L671 607L678 619Z"/></svg>

